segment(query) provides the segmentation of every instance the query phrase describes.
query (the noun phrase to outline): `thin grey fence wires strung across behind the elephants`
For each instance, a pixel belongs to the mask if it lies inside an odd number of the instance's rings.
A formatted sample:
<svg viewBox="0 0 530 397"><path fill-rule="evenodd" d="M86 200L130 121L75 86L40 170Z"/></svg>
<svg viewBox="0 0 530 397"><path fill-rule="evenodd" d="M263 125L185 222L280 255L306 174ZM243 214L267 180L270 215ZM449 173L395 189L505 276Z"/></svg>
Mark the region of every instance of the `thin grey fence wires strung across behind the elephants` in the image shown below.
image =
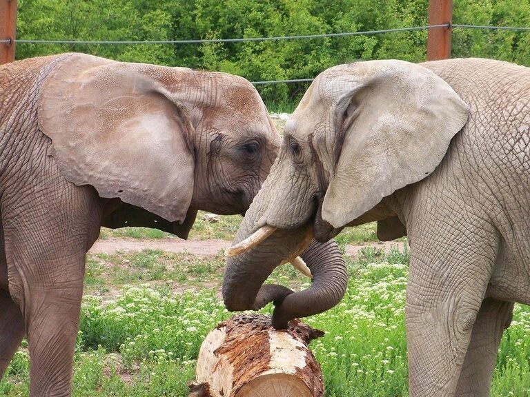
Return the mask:
<svg viewBox="0 0 530 397"><path fill-rule="evenodd" d="M14 39L16 44L79 44L79 45L140 45L140 44L163 44L163 45L186 45L186 44L203 44L203 43L244 43L251 41L279 41L279 40L300 40L300 39L323 39L326 37L349 37L362 36L371 34L384 34L394 32L413 32L420 30L429 30L437 28L460 28L460 29L482 29L482 30L512 30L516 32L527 32L530 28L517 26L480 26L480 25L462 25L442 23L440 25L415 26L411 28L394 28L383 30L366 30L362 32L343 32L343 33L326 33L326 34L305 34L298 36L279 36L279 37L244 37L238 39L191 39L191 40L146 40L146 41L82 41L82 40L33 40L33 39ZM11 44L12 39L1 39L0 43ZM279 84L279 83L306 83L313 79L291 79L291 80L268 80L252 81L254 85Z"/></svg>

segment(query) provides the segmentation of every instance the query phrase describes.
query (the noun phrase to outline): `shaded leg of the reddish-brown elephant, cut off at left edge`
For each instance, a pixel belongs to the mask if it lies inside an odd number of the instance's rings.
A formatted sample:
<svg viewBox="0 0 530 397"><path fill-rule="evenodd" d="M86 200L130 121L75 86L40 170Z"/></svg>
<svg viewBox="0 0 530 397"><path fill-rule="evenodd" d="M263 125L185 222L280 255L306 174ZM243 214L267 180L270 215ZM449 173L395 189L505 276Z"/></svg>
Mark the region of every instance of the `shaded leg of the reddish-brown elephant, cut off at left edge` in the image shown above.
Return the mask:
<svg viewBox="0 0 530 397"><path fill-rule="evenodd" d="M24 336L22 314L9 295L7 281L8 264L0 220L0 379Z"/></svg>

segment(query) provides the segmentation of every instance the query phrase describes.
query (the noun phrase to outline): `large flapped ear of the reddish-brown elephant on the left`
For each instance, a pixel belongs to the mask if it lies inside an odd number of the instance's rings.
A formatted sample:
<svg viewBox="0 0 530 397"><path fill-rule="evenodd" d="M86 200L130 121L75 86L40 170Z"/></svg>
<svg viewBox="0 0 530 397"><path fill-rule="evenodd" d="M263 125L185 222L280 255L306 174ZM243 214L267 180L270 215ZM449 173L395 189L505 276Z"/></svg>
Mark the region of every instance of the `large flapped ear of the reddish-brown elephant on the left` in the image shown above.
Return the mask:
<svg viewBox="0 0 530 397"><path fill-rule="evenodd" d="M41 88L39 128L52 139L63 176L184 221L193 194L193 126L171 93L184 71L85 54L57 66Z"/></svg>

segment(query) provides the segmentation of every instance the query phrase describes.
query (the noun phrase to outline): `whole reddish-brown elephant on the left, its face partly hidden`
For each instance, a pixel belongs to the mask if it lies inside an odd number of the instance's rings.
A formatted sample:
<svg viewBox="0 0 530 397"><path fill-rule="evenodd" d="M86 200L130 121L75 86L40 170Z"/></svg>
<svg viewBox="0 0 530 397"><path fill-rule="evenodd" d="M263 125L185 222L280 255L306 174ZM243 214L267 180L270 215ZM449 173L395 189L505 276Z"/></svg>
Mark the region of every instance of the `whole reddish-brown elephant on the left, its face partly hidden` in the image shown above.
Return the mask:
<svg viewBox="0 0 530 397"><path fill-rule="evenodd" d="M69 396L100 225L243 214L279 136L240 77L82 54L1 65L0 104L0 377L27 336L30 395Z"/></svg>

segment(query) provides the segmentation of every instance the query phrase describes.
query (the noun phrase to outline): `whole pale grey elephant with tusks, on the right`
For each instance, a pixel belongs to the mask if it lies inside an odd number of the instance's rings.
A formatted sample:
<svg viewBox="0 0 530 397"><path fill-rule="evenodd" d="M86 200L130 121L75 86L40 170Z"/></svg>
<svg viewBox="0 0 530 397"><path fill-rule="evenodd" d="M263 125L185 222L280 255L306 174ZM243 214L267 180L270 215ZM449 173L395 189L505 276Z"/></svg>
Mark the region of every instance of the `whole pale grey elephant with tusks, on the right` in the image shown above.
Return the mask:
<svg viewBox="0 0 530 397"><path fill-rule="evenodd" d="M287 121L235 236L243 252L226 261L226 307L252 309L272 269L303 249L296 239L328 241L377 221L381 240L409 238L410 396L488 396L513 304L530 303L529 125L530 69L520 65L378 60L325 70ZM264 228L266 238L242 246ZM276 287L273 325L340 300L337 271L322 269L327 287L304 297L311 305L297 298L308 289Z"/></svg>

